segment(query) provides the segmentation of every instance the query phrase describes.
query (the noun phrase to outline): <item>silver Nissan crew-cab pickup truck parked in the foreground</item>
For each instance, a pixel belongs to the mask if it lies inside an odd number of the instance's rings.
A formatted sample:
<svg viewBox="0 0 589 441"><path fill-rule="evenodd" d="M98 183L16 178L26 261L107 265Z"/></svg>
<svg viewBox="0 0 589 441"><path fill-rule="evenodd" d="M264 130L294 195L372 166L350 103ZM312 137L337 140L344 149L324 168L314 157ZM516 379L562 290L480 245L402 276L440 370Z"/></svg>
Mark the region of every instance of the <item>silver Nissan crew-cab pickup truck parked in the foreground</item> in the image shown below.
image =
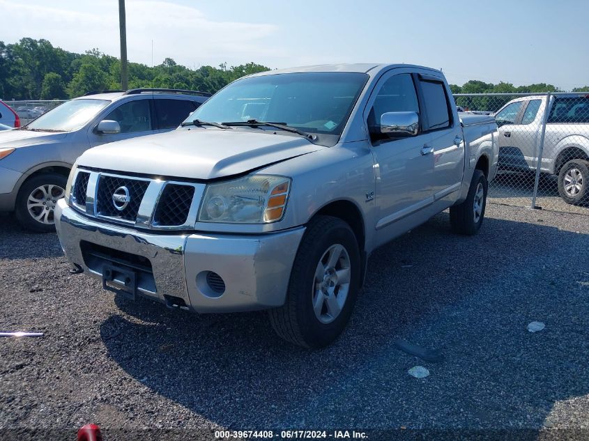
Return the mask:
<svg viewBox="0 0 589 441"><path fill-rule="evenodd" d="M494 118L459 117L438 70L273 70L173 132L86 151L56 228L106 289L268 309L277 334L315 348L344 329L376 247L447 208L454 231L477 233L497 159Z"/></svg>

